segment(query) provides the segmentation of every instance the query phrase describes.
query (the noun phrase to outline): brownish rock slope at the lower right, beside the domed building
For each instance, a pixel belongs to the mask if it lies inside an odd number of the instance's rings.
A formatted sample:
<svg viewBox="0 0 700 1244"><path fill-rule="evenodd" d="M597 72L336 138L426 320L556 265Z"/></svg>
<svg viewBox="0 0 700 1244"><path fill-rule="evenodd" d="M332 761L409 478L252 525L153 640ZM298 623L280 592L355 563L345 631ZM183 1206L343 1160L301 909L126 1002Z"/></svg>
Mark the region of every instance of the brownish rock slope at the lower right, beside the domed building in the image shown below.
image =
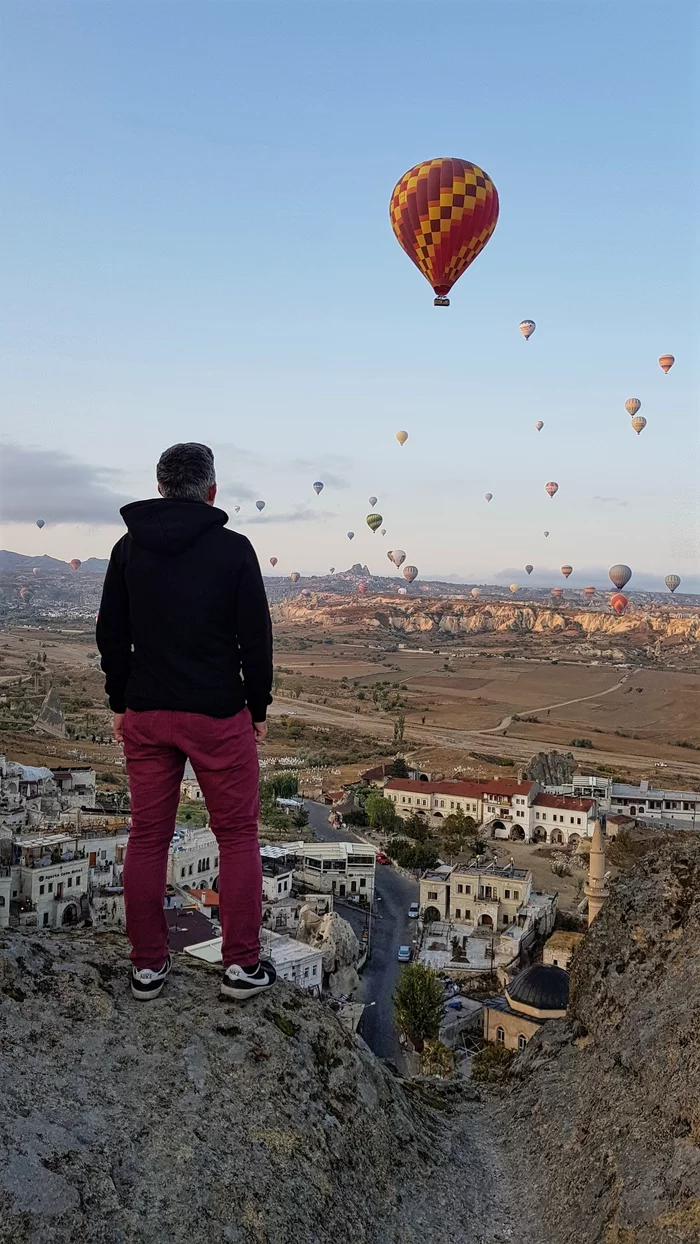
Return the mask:
<svg viewBox="0 0 700 1244"><path fill-rule="evenodd" d="M572 965L569 1018L515 1065L496 1126L547 1244L700 1240L700 843L622 876Z"/></svg>

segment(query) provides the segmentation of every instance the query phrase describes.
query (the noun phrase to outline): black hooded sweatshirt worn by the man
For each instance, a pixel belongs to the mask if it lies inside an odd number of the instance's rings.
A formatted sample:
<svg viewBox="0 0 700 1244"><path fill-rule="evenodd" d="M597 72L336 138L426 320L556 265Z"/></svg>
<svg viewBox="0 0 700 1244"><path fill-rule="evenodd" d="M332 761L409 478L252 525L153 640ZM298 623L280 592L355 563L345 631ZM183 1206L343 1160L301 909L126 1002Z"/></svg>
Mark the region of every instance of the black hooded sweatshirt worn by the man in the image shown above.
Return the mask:
<svg viewBox="0 0 700 1244"><path fill-rule="evenodd" d="M252 545L204 501L124 505L97 618L114 713L178 709L264 722L272 633Z"/></svg>

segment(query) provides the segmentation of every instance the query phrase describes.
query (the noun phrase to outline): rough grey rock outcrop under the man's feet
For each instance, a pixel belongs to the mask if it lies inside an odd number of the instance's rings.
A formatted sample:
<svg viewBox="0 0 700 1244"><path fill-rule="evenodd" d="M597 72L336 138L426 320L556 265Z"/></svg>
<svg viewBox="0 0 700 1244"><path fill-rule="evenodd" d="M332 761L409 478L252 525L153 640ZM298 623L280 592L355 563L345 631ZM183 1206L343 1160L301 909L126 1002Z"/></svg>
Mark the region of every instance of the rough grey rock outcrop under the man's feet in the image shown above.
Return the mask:
<svg viewBox="0 0 700 1244"><path fill-rule="evenodd" d="M184 955L137 1003L124 964L116 933L4 931L1 1244L510 1238L454 1090L404 1084L283 983L221 1003Z"/></svg>

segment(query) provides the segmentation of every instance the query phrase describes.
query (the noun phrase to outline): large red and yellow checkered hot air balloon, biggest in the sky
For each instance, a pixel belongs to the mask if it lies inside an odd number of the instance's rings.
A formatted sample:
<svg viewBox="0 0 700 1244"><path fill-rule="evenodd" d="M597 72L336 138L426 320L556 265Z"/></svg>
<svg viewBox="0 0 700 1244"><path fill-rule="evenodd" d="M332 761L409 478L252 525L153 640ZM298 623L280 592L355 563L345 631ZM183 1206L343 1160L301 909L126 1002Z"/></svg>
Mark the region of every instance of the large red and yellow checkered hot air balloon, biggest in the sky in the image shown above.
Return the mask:
<svg viewBox="0 0 700 1244"><path fill-rule="evenodd" d="M484 250L499 219L491 178L463 159L430 159L397 182L389 220L408 258L449 306L455 281Z"/></svg>

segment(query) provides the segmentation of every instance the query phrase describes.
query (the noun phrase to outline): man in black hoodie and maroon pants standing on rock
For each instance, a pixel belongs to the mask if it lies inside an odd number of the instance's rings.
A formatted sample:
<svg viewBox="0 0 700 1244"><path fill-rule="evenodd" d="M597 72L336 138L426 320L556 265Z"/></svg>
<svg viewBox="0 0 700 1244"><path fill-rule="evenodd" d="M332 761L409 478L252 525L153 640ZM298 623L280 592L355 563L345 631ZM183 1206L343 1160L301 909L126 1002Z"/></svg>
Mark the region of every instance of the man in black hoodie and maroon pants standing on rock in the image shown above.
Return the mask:
<svg viewBox="0 0 700 1244"><path fill-rule="evenodd" d="M269 989L260 962L262 870L256 744L272 687L270 611L257 557L214 506L214 455L172 445L160 499L124 505L97 621L104 687L132 801L124 863L134 998L157 998L172 960L163 911L187 758L219 843L221 995Z"/></svg>

